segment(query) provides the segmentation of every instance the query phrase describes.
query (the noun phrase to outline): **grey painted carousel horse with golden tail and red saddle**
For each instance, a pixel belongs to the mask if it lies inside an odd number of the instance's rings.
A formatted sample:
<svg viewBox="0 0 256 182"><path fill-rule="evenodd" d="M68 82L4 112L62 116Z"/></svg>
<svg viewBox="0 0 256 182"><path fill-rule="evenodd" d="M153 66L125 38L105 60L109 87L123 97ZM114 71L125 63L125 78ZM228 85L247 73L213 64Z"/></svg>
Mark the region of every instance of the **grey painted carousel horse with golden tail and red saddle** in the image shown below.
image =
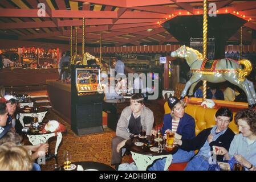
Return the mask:
<svg viewBox="0 0 256 182"><path fill-rule="evenodd" d="M181 93L181 99L186 96L193 95L193 90L200 80L209 82L224 82L229 81L231 84L239 86L247 96L249 107L253 107L256 103L256 93L254 90L253 82L246 79L246 76L251 73L252 67L249 60L233 60L233 59L220 59L208 60L203 59L202 54L197 50L181 46L176 51L170 53L172 57L180 57L186 60L192 72L192 77L186 82L184 90ZM242 66L244 68L242 69Z"/></svg>

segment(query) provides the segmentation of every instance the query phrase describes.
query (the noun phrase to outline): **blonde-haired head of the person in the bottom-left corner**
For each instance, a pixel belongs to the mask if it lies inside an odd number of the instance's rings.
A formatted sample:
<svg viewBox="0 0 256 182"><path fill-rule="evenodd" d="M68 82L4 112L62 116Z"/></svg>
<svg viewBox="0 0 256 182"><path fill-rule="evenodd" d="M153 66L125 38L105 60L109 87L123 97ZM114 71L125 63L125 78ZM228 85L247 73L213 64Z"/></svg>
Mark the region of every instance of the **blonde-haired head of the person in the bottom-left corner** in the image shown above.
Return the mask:
<svg viewBox="0 0 256 182"><path fill-rule="evenodd" d="M0 146L0 171L31 171L33 162L26 148L7 142Z"/></svg>

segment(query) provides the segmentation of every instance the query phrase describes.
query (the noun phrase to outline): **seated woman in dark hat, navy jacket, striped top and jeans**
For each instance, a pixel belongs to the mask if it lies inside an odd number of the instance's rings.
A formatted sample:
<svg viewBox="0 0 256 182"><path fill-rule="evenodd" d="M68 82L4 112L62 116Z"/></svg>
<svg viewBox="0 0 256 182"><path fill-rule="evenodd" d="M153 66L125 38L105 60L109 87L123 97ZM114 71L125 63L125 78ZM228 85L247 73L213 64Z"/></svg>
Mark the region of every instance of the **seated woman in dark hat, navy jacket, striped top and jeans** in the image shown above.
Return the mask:
<svg viewBox="0 0 256 182"><path fill-rule="evenodd" d="M184 107L186 103L178 100L176 97L169 97L168 105L172 110L170 114L164 115L164 126L162 126L162 135L172 130L174 133L182 135L182 139L192 139L196 137L195 127L196 123L194 118L189 114L184 113ZM194 151L186 151L178 149L173 154L172 163L188 162L194 156ZM157 160L150 171L164 170L166 158Z"/></svg>

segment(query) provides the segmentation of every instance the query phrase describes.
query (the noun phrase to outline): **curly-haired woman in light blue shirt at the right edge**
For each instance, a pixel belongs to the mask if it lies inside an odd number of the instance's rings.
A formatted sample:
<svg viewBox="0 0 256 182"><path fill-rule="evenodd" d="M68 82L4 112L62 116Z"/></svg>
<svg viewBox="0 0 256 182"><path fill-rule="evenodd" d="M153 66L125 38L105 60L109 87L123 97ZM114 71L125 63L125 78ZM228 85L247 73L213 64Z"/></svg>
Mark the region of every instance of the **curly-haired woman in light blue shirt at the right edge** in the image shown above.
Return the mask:
<svg viewBox="0 0 256 182"><path fill-rule="evenodd" d="M256 171L256 111L245 109L235 114L235 124L239 133L230 144L229 151L224 147L216 147L217 155L224 155L226 160L233 156L242 164L246 171Z"/></svg>

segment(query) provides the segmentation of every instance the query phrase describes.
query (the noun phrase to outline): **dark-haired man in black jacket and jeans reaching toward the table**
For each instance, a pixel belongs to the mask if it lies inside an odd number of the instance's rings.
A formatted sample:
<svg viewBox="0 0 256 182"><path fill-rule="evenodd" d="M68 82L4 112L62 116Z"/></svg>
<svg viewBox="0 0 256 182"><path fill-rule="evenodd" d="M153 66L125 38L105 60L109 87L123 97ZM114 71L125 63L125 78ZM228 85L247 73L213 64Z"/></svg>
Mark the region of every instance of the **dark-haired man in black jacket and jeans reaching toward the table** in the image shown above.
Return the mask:
<svg viewBox="0 0 256 182"><path fill-rule="evenodd" d="M224 147L229 150L234 133L229 129L233 113L226 107L218 109L215 114L216 126L201 131L193 139L174 139L182 150L199 150L197 155L189 161L186 171L207 171L212 157L213 146ZM217 155L218 161L223 161L221 155Z"/></svg>

